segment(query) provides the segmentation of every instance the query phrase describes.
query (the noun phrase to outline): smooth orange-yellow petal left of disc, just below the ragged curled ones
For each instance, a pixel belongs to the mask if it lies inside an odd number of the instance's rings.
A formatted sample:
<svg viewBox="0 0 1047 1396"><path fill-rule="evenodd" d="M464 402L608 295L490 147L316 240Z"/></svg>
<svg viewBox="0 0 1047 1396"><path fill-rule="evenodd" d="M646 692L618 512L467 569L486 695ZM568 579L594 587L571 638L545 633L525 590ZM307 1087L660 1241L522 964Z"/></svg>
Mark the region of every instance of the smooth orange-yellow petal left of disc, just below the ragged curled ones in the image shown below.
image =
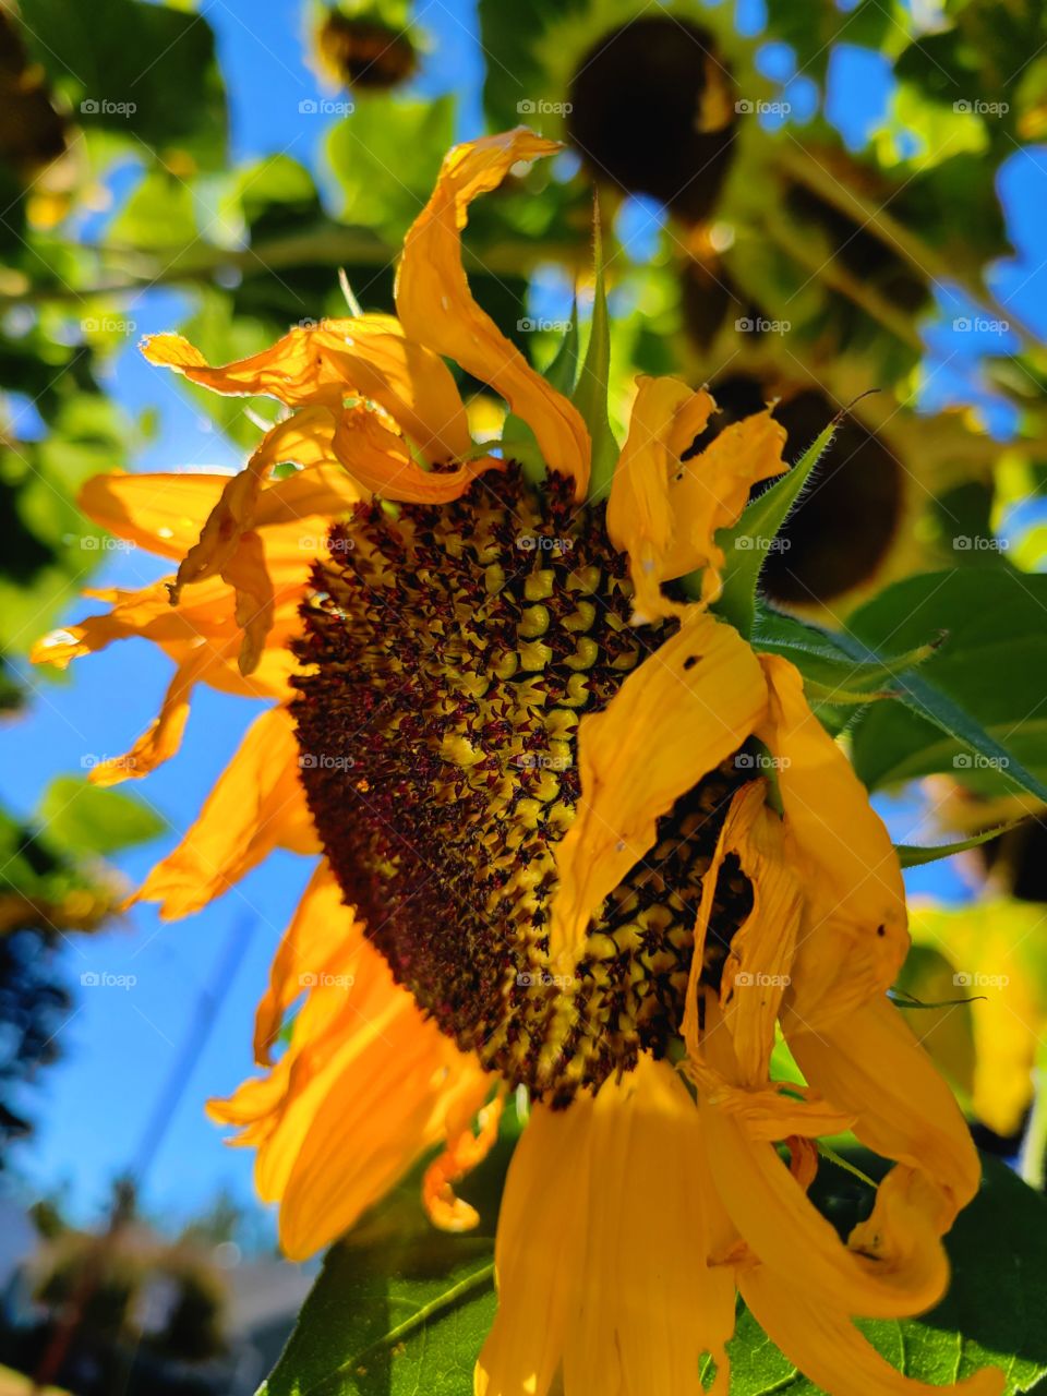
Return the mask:
<svg viewBox="0 0 1047 1396"><path fill-rule="evenodd" d="M165 920L198 912L275 847L317 853L299 780L295 729L283 708L255 719L181 843L149 872L137 900Z"/></svg>

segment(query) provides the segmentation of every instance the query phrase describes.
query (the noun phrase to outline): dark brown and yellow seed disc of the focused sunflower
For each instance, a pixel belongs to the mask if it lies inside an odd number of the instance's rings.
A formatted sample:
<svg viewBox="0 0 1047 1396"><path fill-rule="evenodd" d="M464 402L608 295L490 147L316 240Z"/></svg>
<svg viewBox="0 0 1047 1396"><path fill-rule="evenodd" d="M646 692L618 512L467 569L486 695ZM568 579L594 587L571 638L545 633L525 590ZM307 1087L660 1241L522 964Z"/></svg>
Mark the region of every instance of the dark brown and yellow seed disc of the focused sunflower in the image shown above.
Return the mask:
<svg viewBox="0 0 1047 1396"><path fill-rule="evenodd" d="M295 716L310 807L346 902L463 1050L565 1103L678 1034L702 875L733 762L659 825L570 976L547 956L577 734L666 638L634 630L603 511L514 469L451 505L362 507L317 564ZM751 889L718 881L716 979Z"/></svg>

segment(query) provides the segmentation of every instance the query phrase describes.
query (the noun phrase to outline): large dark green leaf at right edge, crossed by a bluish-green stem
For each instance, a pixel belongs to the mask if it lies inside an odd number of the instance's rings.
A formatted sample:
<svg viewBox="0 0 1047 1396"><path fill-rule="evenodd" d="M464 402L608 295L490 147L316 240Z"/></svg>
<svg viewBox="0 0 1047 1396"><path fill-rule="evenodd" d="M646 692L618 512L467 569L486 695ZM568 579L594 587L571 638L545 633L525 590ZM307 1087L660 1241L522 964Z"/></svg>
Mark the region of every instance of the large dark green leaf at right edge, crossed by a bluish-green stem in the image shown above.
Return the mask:
<svg viewBox="0 0 1047 1396"><path fill-rule="evenodd" d="M836 641L859 658L948 632L900 701L852 729L866 785L946 771L986 794L1020 786L1047 800L1046 618L1047 577L1002 565L912 577L857 610Z"/></svg>

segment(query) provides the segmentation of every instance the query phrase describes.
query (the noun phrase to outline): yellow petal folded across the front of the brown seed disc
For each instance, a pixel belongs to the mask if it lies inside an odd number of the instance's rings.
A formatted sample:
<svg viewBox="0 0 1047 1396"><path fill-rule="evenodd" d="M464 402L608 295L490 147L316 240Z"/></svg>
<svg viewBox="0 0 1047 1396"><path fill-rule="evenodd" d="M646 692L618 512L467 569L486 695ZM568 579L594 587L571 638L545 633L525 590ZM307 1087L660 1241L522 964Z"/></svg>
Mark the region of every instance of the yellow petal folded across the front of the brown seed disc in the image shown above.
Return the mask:
<svg viewBox="0 0 1047 1396"><path fill-rule="evenodd" d="M574 963L589 917L655 842L660 815L764 715L759 664L737 631L691 607L603 712L582 718L582 793L557 847L550 953Z"/></svg>

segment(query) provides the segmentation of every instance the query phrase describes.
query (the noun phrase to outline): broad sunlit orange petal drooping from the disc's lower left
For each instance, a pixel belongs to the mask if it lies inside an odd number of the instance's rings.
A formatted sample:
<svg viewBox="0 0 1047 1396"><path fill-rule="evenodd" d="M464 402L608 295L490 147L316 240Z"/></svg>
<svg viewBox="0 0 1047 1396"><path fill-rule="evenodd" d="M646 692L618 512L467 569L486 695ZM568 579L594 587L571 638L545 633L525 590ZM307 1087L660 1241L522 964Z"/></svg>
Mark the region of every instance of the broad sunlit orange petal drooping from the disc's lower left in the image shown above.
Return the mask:
<svg viewBox="0 0 1047 1396"><path fill-rule="evenodd" d="M420 1154L458 1138L490 1092L475 1058L423 1020L341 912L338 973L318 972L307 987L285 1055L268 1076L209 1103L258 1148L255 1184L281 1205L292 1259L336 1240Z"/></svg>

